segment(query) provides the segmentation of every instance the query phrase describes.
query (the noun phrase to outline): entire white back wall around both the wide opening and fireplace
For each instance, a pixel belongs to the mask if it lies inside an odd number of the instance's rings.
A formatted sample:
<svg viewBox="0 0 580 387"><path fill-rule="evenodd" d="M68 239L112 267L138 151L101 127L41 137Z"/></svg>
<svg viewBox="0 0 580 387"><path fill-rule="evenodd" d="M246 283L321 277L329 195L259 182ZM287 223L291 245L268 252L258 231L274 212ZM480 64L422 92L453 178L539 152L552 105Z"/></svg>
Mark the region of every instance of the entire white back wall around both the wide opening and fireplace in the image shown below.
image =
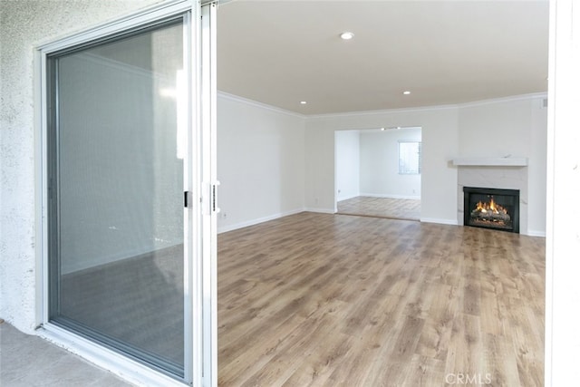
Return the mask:
<svg viewBox="0 0 580 387"><path fill-rule="evenodd" d="M528 209L525 232L546 230L545 95L525 95L399 111L370 111L309 117L306 121L305 207L333 212L333 131L408 127L422 128L421 220L458 224L458 156L527 157ZM482 141L485 145L482 145ZM363 140L361 140L363 142ZM361 186L361 191L364 191Z"/></svg>

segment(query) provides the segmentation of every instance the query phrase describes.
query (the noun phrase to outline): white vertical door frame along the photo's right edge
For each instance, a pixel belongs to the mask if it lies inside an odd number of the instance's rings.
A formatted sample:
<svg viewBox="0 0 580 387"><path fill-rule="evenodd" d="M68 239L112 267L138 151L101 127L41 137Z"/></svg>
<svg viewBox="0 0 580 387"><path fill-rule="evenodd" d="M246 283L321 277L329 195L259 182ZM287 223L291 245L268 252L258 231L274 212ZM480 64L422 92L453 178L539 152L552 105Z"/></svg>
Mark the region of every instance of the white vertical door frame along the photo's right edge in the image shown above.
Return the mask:
<svg viewBox="0 0 580 387"><path fill-rule="evenodd" d="M550 0L546 192L545 385L580 380L580 6Z"/></svg>

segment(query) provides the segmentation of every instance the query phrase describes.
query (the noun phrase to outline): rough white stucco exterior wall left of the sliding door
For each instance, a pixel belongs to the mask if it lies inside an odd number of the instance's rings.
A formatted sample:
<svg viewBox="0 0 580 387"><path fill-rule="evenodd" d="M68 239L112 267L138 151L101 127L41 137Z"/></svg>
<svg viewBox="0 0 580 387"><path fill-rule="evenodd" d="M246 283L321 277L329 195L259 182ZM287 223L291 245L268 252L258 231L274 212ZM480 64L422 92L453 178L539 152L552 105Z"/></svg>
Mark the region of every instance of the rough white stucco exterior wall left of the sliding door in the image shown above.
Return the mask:
<svg viewBox="0 0 580 387"><path fill-rule="evenodd" d="M36 315L34 46L160 0L0 0L0 317Z"/></svg>

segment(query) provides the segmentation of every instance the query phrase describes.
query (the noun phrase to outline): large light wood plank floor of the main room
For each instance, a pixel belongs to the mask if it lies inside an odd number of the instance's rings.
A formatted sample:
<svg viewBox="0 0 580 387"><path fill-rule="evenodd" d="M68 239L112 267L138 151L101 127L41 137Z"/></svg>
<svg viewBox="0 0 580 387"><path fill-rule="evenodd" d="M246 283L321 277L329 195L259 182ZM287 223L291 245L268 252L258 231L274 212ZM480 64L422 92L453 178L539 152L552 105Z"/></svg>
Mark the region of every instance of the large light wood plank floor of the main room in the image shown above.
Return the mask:
<svg viewBox="0 0 580 387"><path fill-rule="evenodd" d="M314 213L221 234L218 384L540 386L544 251L539 237Z"/></svg>

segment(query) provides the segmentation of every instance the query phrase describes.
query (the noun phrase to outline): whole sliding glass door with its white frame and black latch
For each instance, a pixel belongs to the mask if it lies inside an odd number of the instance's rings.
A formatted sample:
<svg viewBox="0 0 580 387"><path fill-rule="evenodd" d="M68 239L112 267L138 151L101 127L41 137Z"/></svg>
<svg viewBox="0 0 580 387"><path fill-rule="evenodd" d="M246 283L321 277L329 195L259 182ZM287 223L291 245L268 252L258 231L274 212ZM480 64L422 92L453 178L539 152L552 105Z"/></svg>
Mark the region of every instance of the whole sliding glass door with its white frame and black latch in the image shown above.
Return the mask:
<svg viewBox="0 0 580 387"><path fill-rule="evenodd" d="M217 385L216 9L37 50L44 332L145 385Z"/></svg>

